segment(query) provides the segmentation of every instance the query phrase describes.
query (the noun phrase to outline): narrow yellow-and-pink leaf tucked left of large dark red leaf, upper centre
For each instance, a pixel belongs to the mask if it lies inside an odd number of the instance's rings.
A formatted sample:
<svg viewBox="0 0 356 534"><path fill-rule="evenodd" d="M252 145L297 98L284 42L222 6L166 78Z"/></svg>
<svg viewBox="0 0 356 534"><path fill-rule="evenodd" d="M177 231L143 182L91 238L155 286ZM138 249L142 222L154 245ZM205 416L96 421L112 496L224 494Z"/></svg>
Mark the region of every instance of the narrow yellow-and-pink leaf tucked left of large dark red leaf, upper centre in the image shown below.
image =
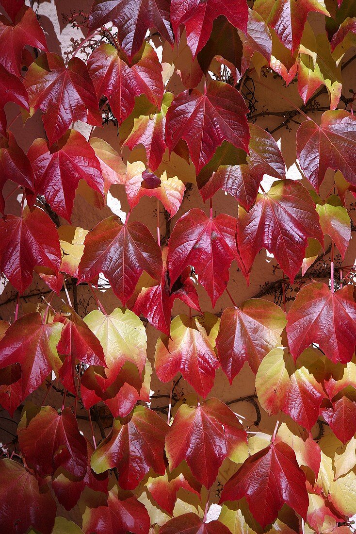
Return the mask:
<svg viewBox="0 0 356 534"><path fill-rule="evenodd" d="M161 111L155 109L153 113L139 115L133 121L133 128L126 138L124 145L130 150L137 145L144 145L148 167L155 171L159 167L167 145L164 139L165 115L173 100L172 93L163 95Z"/></svg>

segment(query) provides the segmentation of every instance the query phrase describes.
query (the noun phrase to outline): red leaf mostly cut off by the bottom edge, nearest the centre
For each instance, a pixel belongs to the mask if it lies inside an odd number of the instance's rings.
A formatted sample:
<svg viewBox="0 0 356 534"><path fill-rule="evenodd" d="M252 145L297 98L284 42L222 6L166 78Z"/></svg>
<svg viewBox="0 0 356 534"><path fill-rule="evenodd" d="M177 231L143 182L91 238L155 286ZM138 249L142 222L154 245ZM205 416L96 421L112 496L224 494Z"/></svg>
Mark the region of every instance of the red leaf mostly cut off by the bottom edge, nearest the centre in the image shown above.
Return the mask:
<svg viewBox="0 0 356 534"><path fill-rule="evenodd" d="M205 523L196 514L189 513L173 517L160 528L160 534L230 534L230 529L220 521Z"/></svg>

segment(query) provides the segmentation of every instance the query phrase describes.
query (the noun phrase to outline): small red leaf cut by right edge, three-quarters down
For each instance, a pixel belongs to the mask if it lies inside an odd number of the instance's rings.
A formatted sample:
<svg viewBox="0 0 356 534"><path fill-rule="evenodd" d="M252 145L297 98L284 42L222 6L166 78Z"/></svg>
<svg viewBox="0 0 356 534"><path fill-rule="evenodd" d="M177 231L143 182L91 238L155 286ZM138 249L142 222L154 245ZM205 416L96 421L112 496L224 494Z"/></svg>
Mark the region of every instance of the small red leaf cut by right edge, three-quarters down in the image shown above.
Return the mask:
<svg viewBox="0 0 356 534"><path fill-rule="evenodd" d="M323 418L329 423L335 436L344 444L356 433L356 402L341 397L332 407L322 410Z"/></svg>

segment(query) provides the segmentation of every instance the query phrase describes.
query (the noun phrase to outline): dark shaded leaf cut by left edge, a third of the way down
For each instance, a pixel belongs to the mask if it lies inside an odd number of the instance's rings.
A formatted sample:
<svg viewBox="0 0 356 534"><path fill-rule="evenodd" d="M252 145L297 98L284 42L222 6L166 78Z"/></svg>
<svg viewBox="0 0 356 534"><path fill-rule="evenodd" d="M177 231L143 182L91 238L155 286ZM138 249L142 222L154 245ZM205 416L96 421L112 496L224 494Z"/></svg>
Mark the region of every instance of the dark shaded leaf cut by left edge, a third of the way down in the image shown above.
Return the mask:
<svg viewBox="0 0 356 534"><path fill-rule="evenodd" d="M34 174L31 163L10 131L7 132L7 137L0 138L0 211L2 213L4 213L5 208L2 190L8 179L22 185L26 191L34 190Z"/></svg>

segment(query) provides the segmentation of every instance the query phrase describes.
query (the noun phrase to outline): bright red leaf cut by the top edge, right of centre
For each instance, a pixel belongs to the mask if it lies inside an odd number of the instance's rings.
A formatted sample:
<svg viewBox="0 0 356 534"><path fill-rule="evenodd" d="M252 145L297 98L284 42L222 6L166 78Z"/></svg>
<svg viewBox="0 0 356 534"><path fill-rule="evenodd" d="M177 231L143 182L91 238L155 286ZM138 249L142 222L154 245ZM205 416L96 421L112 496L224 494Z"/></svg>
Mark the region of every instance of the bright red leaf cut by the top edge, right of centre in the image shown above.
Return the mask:
<svg viewBox="0 0 356 534"><path fill-rule="evenodd" d="M224 15L236 28L247 31L248 6L246 0L207 0L201 4L197 0L171 0L171 22L173 32L179 41L181 25L185 26L187 43L193 59L203 48L211 34L213 21Z"/></svg>

